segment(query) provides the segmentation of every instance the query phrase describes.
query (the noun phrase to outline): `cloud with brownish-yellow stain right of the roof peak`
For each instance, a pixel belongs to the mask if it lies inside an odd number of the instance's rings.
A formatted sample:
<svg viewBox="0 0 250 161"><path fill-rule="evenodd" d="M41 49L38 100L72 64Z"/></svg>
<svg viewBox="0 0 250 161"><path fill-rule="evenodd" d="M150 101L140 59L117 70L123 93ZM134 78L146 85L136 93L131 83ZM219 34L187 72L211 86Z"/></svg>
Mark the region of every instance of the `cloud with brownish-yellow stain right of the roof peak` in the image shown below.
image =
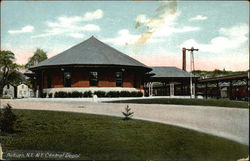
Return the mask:
<svg viewBox="0 0 250 161"><path fill-rule="evenodd" d="M140 14L136 17L135 28L142 31L134 52L137 53L146 42L161 42L162 38L168 37L173 33L185 33L199 31L196 26L176 26L176 21L181 15L177 10L176 2L164 2L160 5L152 17Z"/></svg>

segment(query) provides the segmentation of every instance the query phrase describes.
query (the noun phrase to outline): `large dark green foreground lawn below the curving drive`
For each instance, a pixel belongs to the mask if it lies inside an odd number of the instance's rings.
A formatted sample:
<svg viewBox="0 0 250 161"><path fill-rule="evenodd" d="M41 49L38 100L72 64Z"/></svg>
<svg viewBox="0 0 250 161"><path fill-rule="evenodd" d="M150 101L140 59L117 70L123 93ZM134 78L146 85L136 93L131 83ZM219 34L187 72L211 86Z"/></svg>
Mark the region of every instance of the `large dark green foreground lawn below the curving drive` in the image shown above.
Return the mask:
<svg viewBox="0 0 250 161"><path fill-rule="evenodd" d="M148 121L52 111L14 112L21 126L19 132L1 136L3 151L70 152L80 154L82 160L197 161L237 160L249 153L248 146L230 140Z"/></svg>

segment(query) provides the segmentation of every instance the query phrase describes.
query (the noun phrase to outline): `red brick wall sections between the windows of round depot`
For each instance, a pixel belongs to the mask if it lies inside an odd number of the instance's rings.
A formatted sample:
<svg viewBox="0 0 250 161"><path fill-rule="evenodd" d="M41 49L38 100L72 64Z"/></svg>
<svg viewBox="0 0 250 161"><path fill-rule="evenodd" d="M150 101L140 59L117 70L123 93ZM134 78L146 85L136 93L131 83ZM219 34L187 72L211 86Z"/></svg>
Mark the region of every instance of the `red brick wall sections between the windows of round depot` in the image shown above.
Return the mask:
<svg viewBox="0 0 250 161"><path fill-rule="evenodd" d="M116 69L71 69L71 87L89 87L89 72L98 72L98 87L116 87L115 72ZM51 88L63 88L64 87L64 73L58 69L49 70L43 74L44 88L48 88L48 75L51 75ZM133 88L134 82L136 82L136 88L143 89L141 82L141 73L132 70L126 70L123 72L123 87Z"/></svg>

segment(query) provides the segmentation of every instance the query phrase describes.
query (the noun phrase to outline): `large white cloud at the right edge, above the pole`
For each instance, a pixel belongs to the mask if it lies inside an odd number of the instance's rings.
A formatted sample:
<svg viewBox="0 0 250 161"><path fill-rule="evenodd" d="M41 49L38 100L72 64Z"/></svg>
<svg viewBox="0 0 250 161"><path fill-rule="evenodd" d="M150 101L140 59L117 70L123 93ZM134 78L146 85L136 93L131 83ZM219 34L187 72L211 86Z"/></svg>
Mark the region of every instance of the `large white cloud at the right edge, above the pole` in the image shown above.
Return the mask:
<svg viewBox="0 0 250 161"><path fill-rule="evenodd" d="M190 48L192 46L199 48L202 52L225 53L228 50L237 50L248 40L248 25L242 24L231 28L220 28L219 35L210 40L207 44L196 42L189 39L183 42L180 47Z"/></svg>

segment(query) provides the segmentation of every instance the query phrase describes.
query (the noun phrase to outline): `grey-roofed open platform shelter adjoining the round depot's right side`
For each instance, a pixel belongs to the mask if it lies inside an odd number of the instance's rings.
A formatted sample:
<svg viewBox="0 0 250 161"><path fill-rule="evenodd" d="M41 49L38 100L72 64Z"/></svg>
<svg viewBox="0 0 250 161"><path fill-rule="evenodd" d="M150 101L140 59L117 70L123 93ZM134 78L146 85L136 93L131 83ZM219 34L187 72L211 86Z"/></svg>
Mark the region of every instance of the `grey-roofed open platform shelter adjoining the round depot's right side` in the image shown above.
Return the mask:
<svg viewBox="0 0 250 161"><path fill-rule="evenodd" d="M151 67L144 84L146 96L191 96L198 77L177 67ZM190 87L192 84L191 91Z"/></svg>

